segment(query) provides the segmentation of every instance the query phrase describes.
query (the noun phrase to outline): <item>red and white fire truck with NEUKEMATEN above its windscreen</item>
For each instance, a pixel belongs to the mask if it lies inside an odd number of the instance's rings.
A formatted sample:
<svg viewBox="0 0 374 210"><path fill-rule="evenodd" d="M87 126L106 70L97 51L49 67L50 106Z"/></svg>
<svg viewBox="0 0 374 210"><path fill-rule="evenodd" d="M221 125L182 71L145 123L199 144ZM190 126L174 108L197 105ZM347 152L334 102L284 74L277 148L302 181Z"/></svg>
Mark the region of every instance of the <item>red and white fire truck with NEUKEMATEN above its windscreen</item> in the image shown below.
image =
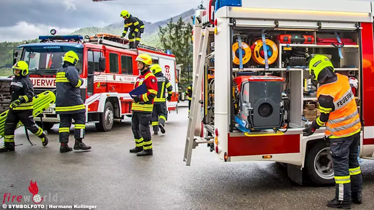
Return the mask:
<svg viewBox="0 0 374 210"><path fill-rule="evenodd" d="M62 57L69 50L80 58L77 68L84 84L80 87L85 101L88 123L95 123L102 132L111 130L114 119L131 117L131 96L134 83L139 75L135 58L139 53L151 55L154 64L162 67L162 72L173 87L172 99L167 101L168 110L175 110L178 102L175 56L160 49L141 45L129 49L128 40L117 36L80 35L40 36L40 43L22 44L15 50L15 57L27 61L35 94L56 87L55 73L62 65ZM120 40L120 41L119 41ZM53 104L35 121L44 129L51 129L59 123Z"/></svg>

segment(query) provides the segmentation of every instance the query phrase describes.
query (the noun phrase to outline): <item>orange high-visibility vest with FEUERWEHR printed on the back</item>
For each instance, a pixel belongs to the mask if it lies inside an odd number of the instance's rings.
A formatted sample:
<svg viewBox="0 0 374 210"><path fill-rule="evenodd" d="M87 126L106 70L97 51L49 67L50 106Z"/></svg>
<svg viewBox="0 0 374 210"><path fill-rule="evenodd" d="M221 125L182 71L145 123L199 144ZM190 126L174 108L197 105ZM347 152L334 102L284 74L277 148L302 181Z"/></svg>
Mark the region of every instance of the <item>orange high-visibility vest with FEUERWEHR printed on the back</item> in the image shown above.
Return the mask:
<svg viewBox="0 0 374 210"><path fill-rule="evenodd" d="M329 138L344 138L360 132L361 121L348 77L336 75L335 82L323 84L318 88L317 98L320 95L334 98L333 108L319 106L321 113L329 113L325 135Z"/></svg>

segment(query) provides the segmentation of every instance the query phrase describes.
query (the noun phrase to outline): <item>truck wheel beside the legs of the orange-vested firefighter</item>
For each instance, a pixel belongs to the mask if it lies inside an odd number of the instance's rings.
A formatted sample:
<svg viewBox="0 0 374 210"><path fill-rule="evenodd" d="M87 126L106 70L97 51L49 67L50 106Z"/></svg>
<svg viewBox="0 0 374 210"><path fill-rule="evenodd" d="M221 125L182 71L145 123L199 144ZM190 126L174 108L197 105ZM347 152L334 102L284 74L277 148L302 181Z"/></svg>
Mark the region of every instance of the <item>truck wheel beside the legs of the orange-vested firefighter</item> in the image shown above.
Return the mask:
<svg viewBox="0 0 374 210"><path fill-rule="evenodd" d="M335 183L330 147L324 140L318 142L308 152L305 159L305 168L310 181L313 183L317 185Z"/></svg>

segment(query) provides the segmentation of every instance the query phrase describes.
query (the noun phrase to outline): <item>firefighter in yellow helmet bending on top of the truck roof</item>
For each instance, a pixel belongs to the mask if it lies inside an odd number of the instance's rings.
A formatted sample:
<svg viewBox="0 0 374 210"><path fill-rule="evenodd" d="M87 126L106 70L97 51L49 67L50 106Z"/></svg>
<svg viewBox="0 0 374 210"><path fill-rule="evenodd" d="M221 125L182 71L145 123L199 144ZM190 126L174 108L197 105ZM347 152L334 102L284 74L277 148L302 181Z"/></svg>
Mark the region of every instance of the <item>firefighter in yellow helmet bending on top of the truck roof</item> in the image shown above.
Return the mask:
<svg viewBox="0 0 374 210"><path fill-rule="evenodd" d="M140 43L141 34L144 33L144 23L139 18L132 16L127 10L122 10L121 17L125 19L125 28L123 29L122 38L125 37L128 28L130 28L130 48L136 48Z"/></svg>

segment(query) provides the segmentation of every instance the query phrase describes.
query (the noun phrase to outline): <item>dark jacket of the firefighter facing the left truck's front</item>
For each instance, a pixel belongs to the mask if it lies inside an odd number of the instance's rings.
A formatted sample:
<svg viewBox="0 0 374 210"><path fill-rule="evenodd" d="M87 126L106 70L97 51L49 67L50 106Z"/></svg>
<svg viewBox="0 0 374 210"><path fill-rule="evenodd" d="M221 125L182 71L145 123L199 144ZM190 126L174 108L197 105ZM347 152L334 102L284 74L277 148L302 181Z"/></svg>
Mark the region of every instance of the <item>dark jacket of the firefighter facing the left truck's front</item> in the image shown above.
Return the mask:
<svg viewBox="0 0 374 210"><path fill-rule="evenodd" d="M65 62L56 72L56 114L85 112L86 108L80 96L79 87L83 80L77 68Z"/></svg>

